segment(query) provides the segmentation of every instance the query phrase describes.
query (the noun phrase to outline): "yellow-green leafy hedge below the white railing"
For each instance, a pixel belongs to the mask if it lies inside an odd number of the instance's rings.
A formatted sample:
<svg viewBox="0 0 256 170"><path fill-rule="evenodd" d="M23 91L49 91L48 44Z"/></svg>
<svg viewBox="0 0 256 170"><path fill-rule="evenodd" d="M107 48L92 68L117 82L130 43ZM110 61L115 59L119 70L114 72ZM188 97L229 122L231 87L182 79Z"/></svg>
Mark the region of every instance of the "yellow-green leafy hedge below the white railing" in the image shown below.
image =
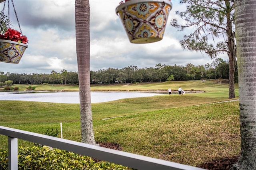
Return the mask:
<svg viewBox="0 0 256 170"><path fill-rule="evenodd" d="M0 168L8 169L8 151L0 150ZM81 156L72 152L47 146L33 146L18 148L18 170L132 170L114 163L95 162L88 156Z"/></svg>

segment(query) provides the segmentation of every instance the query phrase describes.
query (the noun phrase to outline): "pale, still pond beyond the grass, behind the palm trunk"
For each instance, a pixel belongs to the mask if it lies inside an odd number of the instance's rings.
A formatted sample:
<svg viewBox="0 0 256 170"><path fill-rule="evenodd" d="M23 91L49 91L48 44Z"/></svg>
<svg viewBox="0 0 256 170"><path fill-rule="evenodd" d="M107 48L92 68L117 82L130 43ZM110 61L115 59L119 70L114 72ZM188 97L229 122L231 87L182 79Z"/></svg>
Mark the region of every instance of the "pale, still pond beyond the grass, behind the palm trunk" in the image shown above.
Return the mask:
<svg viewBox="0 0 256 170"><path fill-rule="evenodd" d="M134 97L150 97L163 93L144 92L91 92L92 103L102 103ZM41 101L51 103L79 103L79 92L1 92L0 100Z"/></svg>

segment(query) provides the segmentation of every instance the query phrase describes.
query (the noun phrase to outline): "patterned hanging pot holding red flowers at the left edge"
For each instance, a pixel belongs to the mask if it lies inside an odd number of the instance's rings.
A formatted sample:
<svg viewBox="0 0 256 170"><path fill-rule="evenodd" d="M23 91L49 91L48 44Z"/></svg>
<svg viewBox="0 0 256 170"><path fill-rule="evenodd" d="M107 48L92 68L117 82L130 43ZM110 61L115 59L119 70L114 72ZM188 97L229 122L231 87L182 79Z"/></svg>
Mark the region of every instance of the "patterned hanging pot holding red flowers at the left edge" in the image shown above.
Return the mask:
<svg viewBox="0 0 256 170"><path fill-rule="evenodd" d="M28 45L10 40L0 40L2 62L19 63Z"/></svg>

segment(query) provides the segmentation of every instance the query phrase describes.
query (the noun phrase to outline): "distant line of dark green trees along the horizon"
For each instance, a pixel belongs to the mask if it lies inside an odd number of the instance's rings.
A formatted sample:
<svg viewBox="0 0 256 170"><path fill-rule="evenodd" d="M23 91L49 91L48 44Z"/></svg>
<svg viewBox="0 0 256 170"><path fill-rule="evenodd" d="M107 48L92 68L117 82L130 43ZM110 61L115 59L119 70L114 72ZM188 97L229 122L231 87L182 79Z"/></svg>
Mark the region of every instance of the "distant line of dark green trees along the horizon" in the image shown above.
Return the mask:
<svg viewBox="0 0 256 170"><path fill-rule="evenodd" d="M237 68L237 67L236 67ZM238 83L237 69L235 71L235 81ZM92 84L110 83L134 83L134 82L161 82L167 80L203 80L203 79L228 79L229 63L218 58L212 63L205 65L193 65L191 63L182 65L162 65L156 64L155 68L138 68L130 65L122 69L100 69L90 71L90 81ZM51 71L50 74L43 73L4 73L0 72L1 87L13 84L78 84L78 72L63 69L60 73Z"/></svg>

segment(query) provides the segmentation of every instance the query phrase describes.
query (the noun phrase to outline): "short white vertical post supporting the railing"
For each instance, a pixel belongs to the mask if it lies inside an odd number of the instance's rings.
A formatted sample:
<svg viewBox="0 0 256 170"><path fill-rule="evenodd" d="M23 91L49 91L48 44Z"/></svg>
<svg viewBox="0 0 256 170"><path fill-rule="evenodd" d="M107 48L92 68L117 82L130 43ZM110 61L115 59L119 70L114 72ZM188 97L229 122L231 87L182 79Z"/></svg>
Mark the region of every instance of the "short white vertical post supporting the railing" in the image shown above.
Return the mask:
<svg viewBox="0 0 256 170"><path fill-rule="evenodd" d="M18 138L8 136L8 169L18 170Z"/></svg>

